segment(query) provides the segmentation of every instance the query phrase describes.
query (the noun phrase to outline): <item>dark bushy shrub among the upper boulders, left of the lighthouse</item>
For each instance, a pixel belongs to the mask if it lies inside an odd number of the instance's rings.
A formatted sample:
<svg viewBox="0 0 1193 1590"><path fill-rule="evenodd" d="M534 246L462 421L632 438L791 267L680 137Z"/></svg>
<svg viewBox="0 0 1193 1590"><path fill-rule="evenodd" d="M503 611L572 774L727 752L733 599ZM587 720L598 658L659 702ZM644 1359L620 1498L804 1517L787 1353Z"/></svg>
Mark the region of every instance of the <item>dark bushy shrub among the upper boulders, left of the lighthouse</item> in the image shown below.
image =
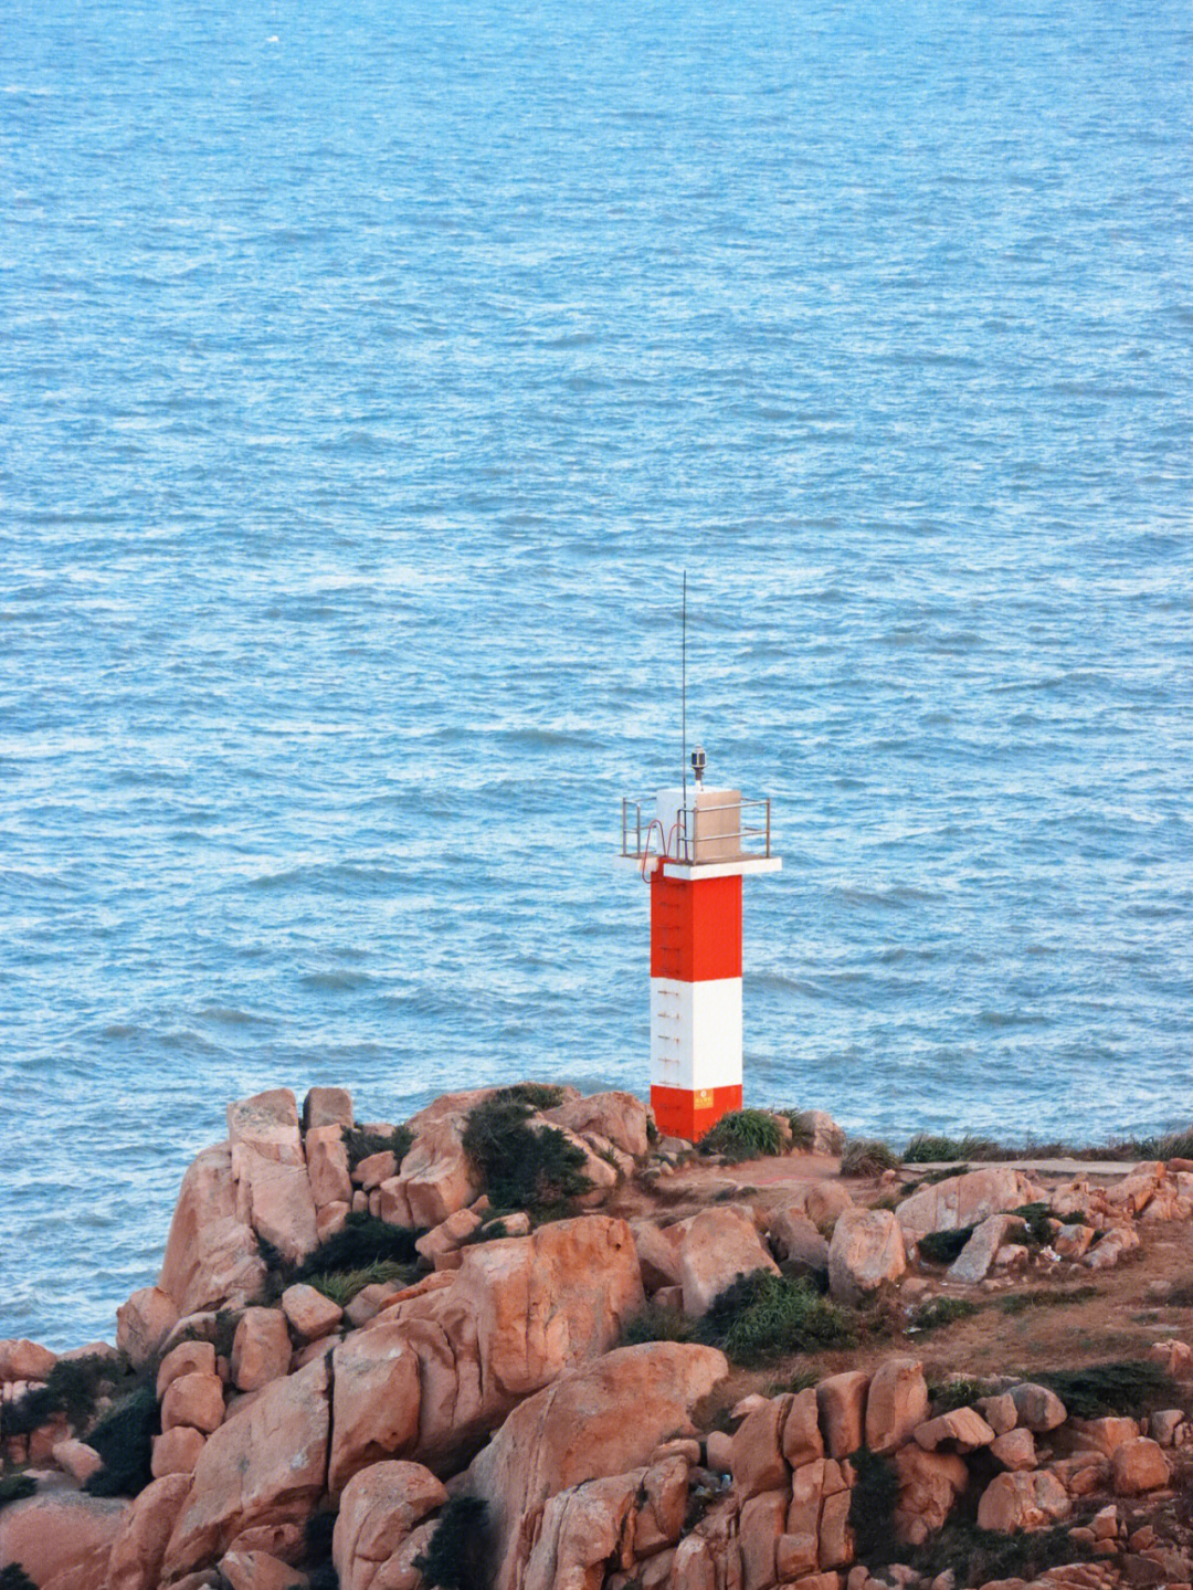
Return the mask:
<svg viewBox="0 0 1193 1590"><path fill-rule="evenodd" d="M529 1084L504 1088L469 1111L464 1151L480 1172L494 1204L550 1216L593 1183L585 1154L554 1127L531 1127Z"/></svg>

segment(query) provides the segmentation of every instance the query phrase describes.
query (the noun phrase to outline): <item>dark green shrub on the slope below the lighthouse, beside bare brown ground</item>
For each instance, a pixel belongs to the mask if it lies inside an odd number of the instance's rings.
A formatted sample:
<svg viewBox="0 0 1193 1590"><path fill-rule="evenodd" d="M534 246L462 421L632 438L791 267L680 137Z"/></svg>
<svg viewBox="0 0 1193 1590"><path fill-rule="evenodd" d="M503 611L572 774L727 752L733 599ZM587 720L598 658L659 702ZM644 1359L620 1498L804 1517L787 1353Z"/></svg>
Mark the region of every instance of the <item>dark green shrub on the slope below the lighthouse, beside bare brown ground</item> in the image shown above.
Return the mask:
<svg viewBox="0 0 1193 1590"><path fill-rule="evenodd" d="M807 1280L767 1270L739 1275L713 1302L704 1329L713 1345L745 1367L782 1353L847 1347L855 1340L848 1317Z"/></svg>

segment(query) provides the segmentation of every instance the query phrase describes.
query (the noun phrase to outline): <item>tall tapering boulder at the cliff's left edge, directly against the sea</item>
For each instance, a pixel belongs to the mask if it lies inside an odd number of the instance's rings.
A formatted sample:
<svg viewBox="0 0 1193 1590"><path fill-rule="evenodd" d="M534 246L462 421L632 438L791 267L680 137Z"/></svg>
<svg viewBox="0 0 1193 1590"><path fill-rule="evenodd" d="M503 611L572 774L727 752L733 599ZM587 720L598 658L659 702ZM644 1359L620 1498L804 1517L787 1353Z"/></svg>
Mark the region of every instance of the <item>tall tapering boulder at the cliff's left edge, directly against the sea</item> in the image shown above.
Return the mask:
<svg viewBox="0 0 1193 1590"><path fill-rule="evenodd" d="M183 1177L157 1285L187 1315L243 1307L264 1280L253 1227L237 1212L232 1150L205 1148Z"/></svg>

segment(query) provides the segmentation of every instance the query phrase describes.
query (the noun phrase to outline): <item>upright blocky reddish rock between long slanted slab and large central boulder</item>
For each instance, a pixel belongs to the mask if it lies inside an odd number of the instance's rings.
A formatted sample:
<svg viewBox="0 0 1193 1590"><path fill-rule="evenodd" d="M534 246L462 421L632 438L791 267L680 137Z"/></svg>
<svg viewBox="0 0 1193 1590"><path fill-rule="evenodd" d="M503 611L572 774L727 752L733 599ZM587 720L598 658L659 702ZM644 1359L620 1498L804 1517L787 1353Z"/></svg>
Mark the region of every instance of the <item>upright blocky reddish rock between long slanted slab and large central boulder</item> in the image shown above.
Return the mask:
<svg viewBox="0 0 1193 1590"><path fill-rule="evenodd" d="M418 1447L419 1359L403 1324L348 1336L332 1355L332 1452L338 1495L359 1469Z"/></svg>

